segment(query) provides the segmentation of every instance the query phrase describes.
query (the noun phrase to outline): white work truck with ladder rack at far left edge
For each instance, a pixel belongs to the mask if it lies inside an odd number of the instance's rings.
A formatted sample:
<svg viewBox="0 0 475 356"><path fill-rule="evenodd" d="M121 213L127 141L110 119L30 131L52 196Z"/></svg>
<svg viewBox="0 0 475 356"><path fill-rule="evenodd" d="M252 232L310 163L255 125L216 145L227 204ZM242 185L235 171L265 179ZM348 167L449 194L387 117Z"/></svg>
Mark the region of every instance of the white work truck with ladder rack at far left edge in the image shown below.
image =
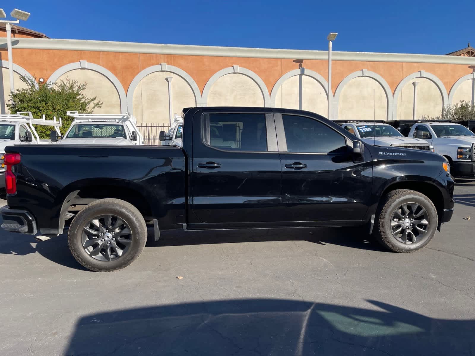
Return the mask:
<svg viewBox="0 0 475 356"><path fill-rule="evenodd" d="M61 118L56 120L34 119L31 112L17 112L16 114L0 115L0 188L5 187L5 163L3 162L5 147L11 145L47 144L47 140L40 140L33 125L54 127L59 134Z"/></svg>

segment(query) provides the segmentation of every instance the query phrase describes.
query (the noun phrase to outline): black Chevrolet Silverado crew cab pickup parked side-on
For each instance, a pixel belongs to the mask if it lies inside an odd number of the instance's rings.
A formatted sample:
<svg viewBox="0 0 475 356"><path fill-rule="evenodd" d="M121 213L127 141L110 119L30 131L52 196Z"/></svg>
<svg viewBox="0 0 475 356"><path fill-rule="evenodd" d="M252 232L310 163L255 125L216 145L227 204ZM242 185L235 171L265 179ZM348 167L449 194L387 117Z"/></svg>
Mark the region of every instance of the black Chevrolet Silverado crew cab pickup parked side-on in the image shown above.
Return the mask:
<svg viewBox="0 0 475 356"><path fill-rule="evenodd" d="M199 107L183 117L183 147L7 147L1 227L57 236L69 226L76 260L103 272L140 255L147 225L155 240L170 229L367 225L390 250L411 252L452 216L454 181L438 154L367 145L313 112Z"/></svg>

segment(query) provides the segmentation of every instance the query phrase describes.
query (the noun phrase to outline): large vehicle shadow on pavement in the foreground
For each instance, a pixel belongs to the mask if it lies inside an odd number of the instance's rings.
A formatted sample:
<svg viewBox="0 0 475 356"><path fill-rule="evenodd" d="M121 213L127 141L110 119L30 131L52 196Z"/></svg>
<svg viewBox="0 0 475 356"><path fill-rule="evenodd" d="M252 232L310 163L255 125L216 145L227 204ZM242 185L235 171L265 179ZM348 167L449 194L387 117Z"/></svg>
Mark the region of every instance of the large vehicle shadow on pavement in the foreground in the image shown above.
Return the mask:
<svg viewBox="0 0 475 356"><path fill-rule="evenodd" d="M432 319L296 300L223 300L125 309L78 320L76 355L472 355L475 320Z"/></svg>

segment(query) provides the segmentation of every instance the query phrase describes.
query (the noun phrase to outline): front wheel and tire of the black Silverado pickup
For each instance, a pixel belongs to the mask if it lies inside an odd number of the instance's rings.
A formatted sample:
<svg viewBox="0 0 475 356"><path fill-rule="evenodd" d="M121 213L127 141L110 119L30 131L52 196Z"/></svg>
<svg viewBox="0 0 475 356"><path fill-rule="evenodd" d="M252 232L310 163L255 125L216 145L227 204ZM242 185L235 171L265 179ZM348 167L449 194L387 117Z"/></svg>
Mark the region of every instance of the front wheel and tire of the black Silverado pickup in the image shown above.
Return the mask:
<svg viewBox="0 0 475 356"><path fill-rule="evenodd" d="M413 212L414 206L420 208L416 207L416 212ZM399 217L400 215L402 218ZM437 210L428 197L414 190L397 189L391 191L380 205L376 214L374 235L376 240L387 249L408 253L426 246L434 237L437 225ZM400 237L399 227L401 228Z"/></svg>

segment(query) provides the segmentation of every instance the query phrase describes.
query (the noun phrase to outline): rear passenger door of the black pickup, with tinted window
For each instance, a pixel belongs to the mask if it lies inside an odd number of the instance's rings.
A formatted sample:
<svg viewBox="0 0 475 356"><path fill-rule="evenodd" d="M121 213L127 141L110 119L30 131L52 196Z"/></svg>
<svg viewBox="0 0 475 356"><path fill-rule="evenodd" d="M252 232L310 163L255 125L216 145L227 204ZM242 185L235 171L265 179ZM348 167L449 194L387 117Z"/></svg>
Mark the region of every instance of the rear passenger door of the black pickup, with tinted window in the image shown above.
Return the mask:
<svg viewBox="0 0 475 356"><path fill-rule="evenodd" d="M281 169L270 109L197 112L192 150L191 223L279 221Z"/></svg>

